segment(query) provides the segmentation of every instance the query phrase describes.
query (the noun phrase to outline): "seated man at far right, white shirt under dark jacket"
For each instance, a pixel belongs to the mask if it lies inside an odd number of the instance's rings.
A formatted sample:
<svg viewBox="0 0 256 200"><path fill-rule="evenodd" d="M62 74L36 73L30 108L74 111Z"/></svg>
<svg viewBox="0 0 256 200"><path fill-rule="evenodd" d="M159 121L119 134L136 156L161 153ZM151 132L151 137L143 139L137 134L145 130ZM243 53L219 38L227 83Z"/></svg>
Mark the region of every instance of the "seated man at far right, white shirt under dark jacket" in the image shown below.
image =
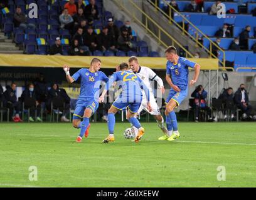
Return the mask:
<svg viewBox="0 0 256 200"><path fill-rule="evenodd" d="M242 118L252 118L252 106L249 104L248 94L245 90L245 84L240 84L240 88L235 92L235 104L243 112Z"/></svg>

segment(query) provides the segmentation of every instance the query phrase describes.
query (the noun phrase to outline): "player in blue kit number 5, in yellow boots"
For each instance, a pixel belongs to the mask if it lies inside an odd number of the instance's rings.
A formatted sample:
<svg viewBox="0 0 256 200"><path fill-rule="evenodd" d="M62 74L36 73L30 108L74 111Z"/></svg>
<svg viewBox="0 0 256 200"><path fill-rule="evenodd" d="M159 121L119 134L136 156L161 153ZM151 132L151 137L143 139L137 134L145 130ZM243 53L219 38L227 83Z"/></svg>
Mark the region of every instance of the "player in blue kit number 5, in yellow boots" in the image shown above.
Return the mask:
<svg viewBox="0 0 256 200"><path fill-rule="evenodd" d="M174 46L169 46L165 51L166 59L166 81L171 86L168 98L166 99L166 126L167 135L159 138L159 140L173 141L179 138L178 123L174 108L188 95L188 68L195 69L193 79L189 81L189 86L193 86L200 73L200 65L189 61L186 58L179 57Z"/></svg>

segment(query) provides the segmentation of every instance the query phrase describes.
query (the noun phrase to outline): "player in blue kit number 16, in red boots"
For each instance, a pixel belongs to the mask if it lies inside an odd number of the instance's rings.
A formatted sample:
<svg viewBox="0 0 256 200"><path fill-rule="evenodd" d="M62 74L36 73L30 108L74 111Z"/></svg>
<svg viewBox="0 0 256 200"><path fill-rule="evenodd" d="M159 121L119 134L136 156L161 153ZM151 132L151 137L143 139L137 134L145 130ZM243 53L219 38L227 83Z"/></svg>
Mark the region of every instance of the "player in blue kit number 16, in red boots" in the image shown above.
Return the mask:
<svg viewBox="0 0 256 200"><path fill-rule="evenodd" d="M89 69L80 69L73 76L70 76L70 68L67 65L63 66L68 83L73 83L79 78L81 80L80 95L73 114L73 127L80 128L80 134L77 137L78 143L82 141L84 135L85 137L88 136L89 119L99 107L100 83L109 81L109 78L102 71L99 71L100 66L100 59L93 58ZM83 119L82 122L81 119Z"/></svg>

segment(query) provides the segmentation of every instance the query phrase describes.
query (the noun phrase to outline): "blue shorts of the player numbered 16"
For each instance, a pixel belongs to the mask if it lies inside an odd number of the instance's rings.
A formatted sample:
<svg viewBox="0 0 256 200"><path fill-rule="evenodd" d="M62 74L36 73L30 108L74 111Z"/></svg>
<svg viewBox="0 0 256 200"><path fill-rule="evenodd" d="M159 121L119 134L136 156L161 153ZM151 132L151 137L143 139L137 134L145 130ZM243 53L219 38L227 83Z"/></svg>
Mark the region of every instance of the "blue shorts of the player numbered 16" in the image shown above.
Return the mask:
<svg viewBox="0 0 256 200"><path fill-rule="evenodd" d="M85 113L85 109L91 109L92 113L95 113L99 107L99 102L95 101L95 99L78 99L77 105L75 106L75 112L73 114L73 119L82 119L83 114Z"/></svg>

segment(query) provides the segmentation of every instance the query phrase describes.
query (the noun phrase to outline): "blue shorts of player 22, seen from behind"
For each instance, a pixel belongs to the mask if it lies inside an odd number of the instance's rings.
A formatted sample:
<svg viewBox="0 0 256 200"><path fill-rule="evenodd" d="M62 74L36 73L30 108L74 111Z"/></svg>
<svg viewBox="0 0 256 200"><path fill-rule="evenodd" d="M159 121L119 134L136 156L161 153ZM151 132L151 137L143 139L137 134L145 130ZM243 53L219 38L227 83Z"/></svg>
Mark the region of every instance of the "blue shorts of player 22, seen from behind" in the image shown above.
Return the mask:
<svg viewBox="0 0 256 200"><path fill-rule="evenodd" d="M119 109L120 111L127 107L131 113L137 113L137 111L141 107L141 97L137 98L136 100L137 101L134 102L127 102L122 101L122 98L117 98L112 104L112 106L114 106L114 108Z"/></svg>

